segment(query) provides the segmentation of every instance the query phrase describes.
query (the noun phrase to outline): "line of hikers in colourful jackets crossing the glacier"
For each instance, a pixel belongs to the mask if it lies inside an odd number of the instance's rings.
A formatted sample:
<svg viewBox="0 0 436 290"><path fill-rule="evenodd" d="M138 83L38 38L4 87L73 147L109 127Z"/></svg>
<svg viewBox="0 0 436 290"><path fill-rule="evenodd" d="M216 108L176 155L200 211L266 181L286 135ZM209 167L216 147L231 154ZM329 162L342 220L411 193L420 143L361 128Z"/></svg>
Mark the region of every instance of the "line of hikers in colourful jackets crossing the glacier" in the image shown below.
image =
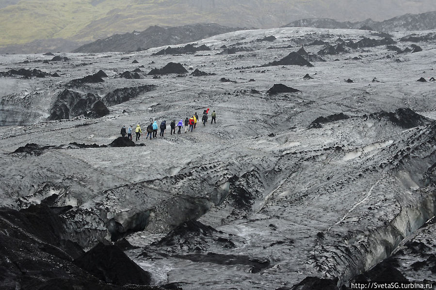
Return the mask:
<svg viewBox="0 0 436 290"><path fill-rule="evenodd" d="M203 122L203 126L206 125L206 123L208 122L208 114L209 114L209 108L203 111L203 117L201 118L201 121ZM211 114L212 120L210 121L210 123L212 124L213 122L216 123L216 113L215 111L213 111ZM194 115L191 118L186 117L186 119L183 121L183 119L181 119L180 121L178 121L178 124L176 125L176 120L173 120L170 123L170 127L171 127L171 132L170 134L173 135L176 134L176 127L178 127L178 134L180 134L181 132L181 128L185 128L185 133L186 132L193 132L196 125L198 122L198 115L197 112L194 113ZM157 134L158 134L158 128L161 129L161 132L159 133L159 136L163 137L163 134L165 133L166 130L166 120L163 120L161 122L161 124L158 127L158 123L157 121L151 122L148 126L147 126L147 137L145 137L145 139L147 139L148 137L150 137L150 139L156 138ZM133 128L132 125L129 126L129 128L126 130L126 126L123 126L121 128L121 136L122 137L127 137L132 140L132 133L133 133ZM138 141L142 135L142 129L141 126L139 124L136 125L135 128L135 133L136 133L136 140Z"/></svg>

